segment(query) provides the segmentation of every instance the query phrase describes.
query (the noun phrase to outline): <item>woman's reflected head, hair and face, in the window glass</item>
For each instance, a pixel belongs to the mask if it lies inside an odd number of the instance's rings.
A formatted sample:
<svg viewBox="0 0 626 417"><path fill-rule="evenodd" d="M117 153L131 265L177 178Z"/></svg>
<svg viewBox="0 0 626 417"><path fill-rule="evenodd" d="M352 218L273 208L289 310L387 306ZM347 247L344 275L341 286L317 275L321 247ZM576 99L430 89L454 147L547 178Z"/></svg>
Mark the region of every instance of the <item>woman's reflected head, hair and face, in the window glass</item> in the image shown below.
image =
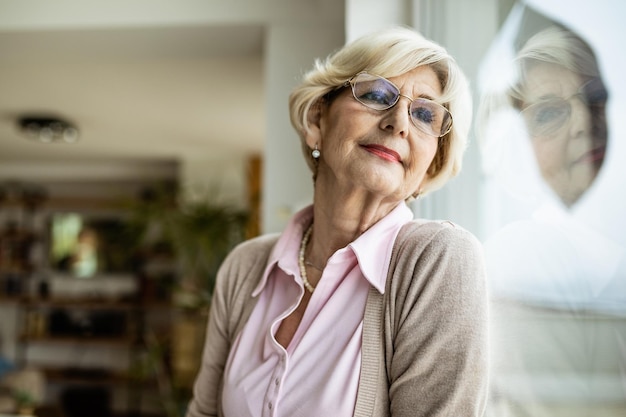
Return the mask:
<svg viewBox="0 0 626 417"><path fill-rule="evenodd" d="M517 55L520 80L509 94L522 112L541 176L566 207L595 180L607 146L608 93L591 47L549 27Z"/></svg>

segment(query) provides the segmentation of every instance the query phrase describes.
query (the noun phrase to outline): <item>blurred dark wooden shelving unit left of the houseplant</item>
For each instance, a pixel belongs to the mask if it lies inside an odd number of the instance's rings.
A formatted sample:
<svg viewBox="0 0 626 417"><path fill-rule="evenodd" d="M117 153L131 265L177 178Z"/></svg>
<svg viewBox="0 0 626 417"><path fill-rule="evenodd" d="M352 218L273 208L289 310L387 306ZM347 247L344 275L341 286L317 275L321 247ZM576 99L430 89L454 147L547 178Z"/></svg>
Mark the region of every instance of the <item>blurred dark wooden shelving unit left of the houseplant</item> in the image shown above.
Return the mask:
<svg viewBox="0 0 626 417"><path fill-rule="evenodd" d="M169 339L172 309L160 278L144 273L133 243L120 238L127 213L98 202L35 207L22 191L0 183L0 356L44 376L49 410L86 402L106 415L165 415L152 351ZM91 274L53 253L54 226L77 221L99 234ZM166 360L158 357L167 371Z"/></svg>

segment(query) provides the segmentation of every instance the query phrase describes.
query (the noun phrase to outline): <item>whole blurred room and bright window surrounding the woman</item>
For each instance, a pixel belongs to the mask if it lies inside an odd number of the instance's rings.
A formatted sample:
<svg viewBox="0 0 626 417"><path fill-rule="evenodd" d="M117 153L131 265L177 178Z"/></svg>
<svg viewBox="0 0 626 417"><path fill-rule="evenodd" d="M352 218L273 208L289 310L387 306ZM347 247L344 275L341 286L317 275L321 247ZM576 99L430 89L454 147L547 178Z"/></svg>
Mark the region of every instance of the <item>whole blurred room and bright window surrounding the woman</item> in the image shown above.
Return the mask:
<svg viewBox="0 0 626 417"><path fill-rule="evenodd" d="M0 415L179 417L219 263L312 197L287 97L392 24L475 93L490 417L626 415L621 0L0 0ZM4 414L3 414L4 413Z"/></svg>

